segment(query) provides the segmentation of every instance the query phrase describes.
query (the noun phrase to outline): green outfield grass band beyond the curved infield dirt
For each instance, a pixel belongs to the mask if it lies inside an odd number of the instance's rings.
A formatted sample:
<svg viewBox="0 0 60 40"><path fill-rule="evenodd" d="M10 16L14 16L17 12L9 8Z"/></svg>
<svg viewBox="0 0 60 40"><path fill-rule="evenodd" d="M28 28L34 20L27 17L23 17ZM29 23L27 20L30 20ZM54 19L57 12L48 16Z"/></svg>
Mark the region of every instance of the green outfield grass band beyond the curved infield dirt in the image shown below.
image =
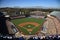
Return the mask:
<svg viewBox="0 0 60 40"><path fill-rule="evenodd" d="M36 19L36 18L23 18L23 19L15 19L12 20L12 22L15 25L21 24L23 22L36 22L39 23L40 25L43 23L44 19Z"/></svg>

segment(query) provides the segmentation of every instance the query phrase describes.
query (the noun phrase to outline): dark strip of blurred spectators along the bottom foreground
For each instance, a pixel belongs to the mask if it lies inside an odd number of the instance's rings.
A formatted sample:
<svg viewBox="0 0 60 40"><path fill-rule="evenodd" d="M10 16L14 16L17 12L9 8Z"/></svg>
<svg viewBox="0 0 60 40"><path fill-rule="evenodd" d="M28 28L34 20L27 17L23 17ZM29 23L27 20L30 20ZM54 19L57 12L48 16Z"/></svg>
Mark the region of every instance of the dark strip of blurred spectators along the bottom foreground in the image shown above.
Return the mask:
<svg viewBox="0 0 60 40"><path fill-rule="evenodd" d="M13 36L2 36L0 35L0 40L60 40L60 34L58 35L47 35L47 36L30 36L28 37L13 37Z"/></svg>

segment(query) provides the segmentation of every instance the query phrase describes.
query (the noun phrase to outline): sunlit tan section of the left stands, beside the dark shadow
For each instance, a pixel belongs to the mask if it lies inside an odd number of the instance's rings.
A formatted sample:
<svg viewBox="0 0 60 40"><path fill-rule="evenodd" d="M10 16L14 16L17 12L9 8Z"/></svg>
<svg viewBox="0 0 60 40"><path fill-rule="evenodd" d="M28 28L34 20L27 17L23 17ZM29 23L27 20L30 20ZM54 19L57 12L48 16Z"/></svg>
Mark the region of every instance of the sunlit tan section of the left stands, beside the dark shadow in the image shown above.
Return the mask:
<svg viewBox="0 0 60 40"><path fill-rule="evenodd" d="M9 35L14 35L15 37L20 37L20 32L16 28L16 26L11 22L11 18L9 15L6 15L6 25L9 31Z"/></svg>

